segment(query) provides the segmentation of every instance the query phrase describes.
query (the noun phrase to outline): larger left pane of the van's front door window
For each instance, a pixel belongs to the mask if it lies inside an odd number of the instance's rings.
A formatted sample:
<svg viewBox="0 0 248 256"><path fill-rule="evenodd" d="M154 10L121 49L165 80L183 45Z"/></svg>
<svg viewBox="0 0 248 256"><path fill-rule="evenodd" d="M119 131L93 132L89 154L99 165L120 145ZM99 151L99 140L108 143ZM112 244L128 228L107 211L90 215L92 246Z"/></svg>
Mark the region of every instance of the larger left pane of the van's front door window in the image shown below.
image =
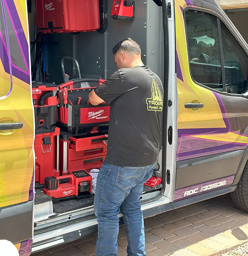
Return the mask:
<svg viewBox="0 0 248 256"><path fill-rule="evenodd" d="M192 78L223 91L217 17L188 10L185 19Z"/></svg>

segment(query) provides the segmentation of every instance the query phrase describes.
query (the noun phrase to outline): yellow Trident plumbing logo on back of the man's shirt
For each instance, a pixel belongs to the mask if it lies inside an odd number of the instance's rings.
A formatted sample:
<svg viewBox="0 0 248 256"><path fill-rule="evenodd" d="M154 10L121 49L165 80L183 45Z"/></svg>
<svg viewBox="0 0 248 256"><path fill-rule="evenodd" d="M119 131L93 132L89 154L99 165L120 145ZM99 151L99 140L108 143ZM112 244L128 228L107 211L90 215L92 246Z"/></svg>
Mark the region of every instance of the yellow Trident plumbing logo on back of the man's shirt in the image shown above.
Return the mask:
<svg viewBox="0 0 248 256"><path fill-rule="evenodd" d="M162 111L163 101L158 84L152 79L152 97L146 99L148 111Z"/></svg>

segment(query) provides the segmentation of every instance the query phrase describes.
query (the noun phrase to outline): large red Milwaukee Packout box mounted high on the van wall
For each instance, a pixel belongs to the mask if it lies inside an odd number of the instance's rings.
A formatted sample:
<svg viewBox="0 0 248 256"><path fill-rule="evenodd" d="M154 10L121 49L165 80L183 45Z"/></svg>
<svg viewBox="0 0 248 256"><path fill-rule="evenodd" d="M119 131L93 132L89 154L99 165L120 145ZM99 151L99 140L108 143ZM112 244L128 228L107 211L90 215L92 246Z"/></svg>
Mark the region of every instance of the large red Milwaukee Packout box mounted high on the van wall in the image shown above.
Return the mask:
<svg viewBox="0 0 248 256"><path fill-rule="evenodd" d="M99 0L35 0L38 30L42 33L100 29Z"/></svg>

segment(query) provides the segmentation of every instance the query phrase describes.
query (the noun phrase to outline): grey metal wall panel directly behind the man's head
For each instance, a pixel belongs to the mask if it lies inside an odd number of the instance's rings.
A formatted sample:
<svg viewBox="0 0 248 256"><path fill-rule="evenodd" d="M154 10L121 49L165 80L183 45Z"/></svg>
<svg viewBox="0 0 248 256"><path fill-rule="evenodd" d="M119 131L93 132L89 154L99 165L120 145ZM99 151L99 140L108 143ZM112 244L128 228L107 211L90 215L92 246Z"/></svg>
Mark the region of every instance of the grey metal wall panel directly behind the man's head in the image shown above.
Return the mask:
<svg viewBox="0 0 248 256"><path fill-rule="evenodd" d="M135 19L133 21L112 20L111 9L113 0L108 0L108 29L107 29L107 77L116 71L117 67L112 57L113 47L122 39L130 37L141 47L142 61L146 64L146 1L135 1ZM127 0L127 5L131 5L132 0Z"/></svg>

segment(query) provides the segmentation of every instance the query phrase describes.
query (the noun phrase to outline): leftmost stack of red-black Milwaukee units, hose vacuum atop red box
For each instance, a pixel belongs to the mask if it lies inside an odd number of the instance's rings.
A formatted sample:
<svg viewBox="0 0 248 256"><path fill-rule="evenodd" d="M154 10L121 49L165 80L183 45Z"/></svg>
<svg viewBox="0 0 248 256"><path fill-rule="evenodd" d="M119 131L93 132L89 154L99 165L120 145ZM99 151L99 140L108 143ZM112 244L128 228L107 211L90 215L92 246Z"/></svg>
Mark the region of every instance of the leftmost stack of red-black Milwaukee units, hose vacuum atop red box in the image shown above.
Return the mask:
<svg viewBox="0 0 248 256"><path fill-rule="evenodd" d="M57 116L56 84L32 83L35 112L35 184L43 186L47 176L58 176L59 128ZM57 161L56 161L57 159Z"/></svg>

